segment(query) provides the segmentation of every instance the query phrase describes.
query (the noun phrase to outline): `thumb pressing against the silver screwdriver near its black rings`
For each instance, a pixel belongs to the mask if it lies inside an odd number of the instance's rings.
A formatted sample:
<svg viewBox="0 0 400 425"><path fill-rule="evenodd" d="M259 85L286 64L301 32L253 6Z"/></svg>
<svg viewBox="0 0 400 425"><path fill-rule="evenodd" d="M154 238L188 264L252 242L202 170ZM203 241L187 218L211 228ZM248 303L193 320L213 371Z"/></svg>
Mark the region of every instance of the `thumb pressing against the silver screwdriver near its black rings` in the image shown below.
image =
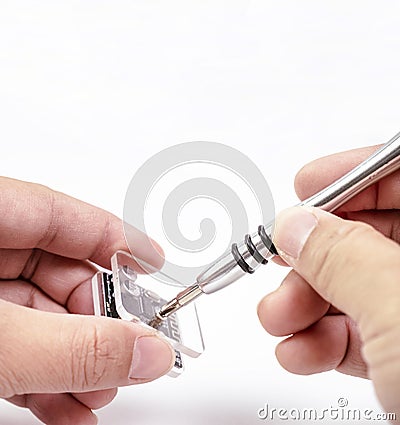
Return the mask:
<svg viewBox="0 0 400 425"><path fill-rule="evenodd" d="M371 226L318 208L278 215L274 244L327 301L349 315L363 339L387 329L400 314L400 247Z"/></svg>

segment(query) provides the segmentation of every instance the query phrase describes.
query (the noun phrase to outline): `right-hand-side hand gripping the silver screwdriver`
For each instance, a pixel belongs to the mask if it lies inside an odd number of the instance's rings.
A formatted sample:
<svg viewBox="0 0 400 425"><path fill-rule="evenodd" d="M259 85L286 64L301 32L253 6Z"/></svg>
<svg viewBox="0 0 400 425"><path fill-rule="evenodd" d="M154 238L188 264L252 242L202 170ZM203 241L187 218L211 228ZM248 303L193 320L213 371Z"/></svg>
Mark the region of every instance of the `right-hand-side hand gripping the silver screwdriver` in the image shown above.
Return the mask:
<svg viewBox="0 0 400 425"><path fill-rule="evenodd" d="M376 149L312 162L297 175L298 195L319 191ZM400 418L400 172L336 214L294 207L278 215L274 243L294 270L258 315L272 335L293 334L276 349L284 368L369 377L384 409Z"/></svg>

